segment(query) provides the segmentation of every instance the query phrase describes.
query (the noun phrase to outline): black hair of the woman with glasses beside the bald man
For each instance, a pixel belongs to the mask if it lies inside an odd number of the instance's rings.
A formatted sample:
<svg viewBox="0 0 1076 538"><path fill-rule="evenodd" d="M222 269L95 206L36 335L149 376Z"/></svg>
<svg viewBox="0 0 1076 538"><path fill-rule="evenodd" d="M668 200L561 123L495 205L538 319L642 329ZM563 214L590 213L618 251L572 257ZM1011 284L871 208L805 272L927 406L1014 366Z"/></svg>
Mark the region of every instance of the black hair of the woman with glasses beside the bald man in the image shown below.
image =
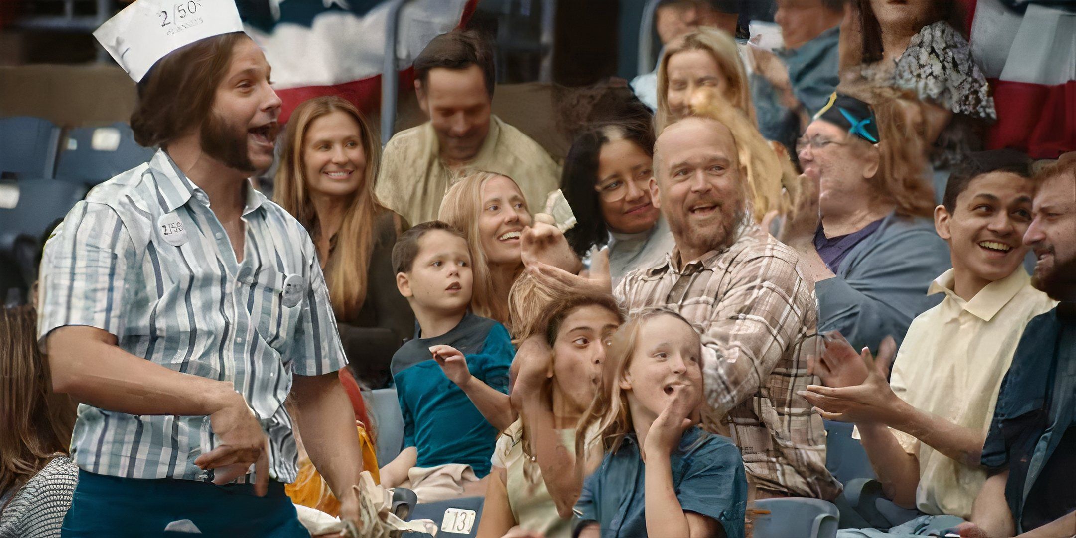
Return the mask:
<svg viewBox="0 0 1076 538"><path fill-rule="evenodd" d="M654 156L654 131L649 123L609 122L583 131L568 150L561 173L561 190L576 215L576 226L565 233L576 254L585 256L592 246L609 242L609 228L601 217L601 200L594 186L598 181L601 148L613 139L627 140L651 157Z"/></svg>

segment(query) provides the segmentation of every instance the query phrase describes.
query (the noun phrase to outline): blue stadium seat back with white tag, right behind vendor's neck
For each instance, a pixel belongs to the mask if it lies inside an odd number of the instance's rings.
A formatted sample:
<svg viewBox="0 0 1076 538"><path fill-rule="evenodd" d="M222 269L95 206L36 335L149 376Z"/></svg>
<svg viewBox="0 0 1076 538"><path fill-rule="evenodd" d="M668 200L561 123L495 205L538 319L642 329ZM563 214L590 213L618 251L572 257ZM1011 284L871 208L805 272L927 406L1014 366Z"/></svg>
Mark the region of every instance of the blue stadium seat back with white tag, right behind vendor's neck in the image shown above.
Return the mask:
<svg viewBox="0 0 1076 538"><path fill-rule="evenodd" d="M154 150L134 142L127 124L71 129L60 144L56 176L96 185L153 157Z"/></svg>

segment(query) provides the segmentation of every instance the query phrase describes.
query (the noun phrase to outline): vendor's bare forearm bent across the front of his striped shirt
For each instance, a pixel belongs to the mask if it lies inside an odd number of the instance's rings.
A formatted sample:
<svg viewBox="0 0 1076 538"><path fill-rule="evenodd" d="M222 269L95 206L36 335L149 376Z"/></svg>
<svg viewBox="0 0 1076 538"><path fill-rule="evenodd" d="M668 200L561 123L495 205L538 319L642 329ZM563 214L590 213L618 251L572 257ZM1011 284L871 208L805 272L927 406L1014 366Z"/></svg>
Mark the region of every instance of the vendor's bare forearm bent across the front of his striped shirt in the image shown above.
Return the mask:
<svg viewBox="0 0 1076 538"><path fill-rule="evenodd" d="M242 399L230 383L182 373L115 345L95 327L60 327L48 336L53 390L76 401L136 415L202 416Z"/></svg>

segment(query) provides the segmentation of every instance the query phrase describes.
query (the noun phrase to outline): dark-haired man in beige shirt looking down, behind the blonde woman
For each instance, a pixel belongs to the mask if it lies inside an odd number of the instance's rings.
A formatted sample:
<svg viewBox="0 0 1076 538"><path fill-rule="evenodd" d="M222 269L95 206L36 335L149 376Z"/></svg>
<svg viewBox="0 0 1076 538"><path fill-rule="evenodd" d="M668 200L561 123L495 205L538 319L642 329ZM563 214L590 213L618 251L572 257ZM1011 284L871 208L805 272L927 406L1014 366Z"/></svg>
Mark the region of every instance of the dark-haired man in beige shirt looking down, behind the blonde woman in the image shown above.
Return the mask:
<svg viewBox="0 0 1076 538"><path fill-rule="evenodd" d="M537 142L493 115L493 52L470 31L434 38L414 60L419 105L429 122L385 146L374 192L411 225L437 218L462 171L507 175L532 212L561 183L561 167Z"/></svg>

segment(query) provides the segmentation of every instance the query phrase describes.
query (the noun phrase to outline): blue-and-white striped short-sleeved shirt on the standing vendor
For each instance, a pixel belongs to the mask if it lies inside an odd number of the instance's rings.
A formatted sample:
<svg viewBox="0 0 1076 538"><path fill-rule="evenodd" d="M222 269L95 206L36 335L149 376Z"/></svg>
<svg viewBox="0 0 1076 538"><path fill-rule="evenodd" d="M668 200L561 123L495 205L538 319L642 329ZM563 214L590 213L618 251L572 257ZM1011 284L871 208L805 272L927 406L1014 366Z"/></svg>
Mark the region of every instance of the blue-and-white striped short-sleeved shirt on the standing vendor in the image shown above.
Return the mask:
<svg viewBox="0 0 1076 538"><path fill-rule="evenodd" d="M99 185L45 245L39 336L47 353L53 329L97 327L132 355L232 383L269 438L270 476L292 482L292 376L332 372L346 360L302 226L250 186L242 218L237 263L209 197L164 151ZM206 480L194 461L217 443L209 416L82 405L71 451L89 472Z"/></svg>

